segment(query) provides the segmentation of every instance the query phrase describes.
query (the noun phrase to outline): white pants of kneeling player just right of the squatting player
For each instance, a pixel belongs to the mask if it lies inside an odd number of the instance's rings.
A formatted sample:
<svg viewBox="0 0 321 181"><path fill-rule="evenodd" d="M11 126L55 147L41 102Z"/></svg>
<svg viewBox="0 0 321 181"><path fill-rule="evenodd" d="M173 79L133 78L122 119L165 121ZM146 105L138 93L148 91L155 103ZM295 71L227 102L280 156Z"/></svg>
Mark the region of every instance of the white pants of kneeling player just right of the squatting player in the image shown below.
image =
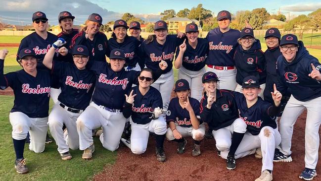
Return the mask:
<svg viewBox="0 0 321 181"><path fill-rule="evenodd" d="M246 131L246 123L237 118L229 126L223 127L218 130L213 130L213 136L216 141L216 148L219 151L229 151L229 147L232 144L232 133L233 131L238 133L244 133Z"/></svg>

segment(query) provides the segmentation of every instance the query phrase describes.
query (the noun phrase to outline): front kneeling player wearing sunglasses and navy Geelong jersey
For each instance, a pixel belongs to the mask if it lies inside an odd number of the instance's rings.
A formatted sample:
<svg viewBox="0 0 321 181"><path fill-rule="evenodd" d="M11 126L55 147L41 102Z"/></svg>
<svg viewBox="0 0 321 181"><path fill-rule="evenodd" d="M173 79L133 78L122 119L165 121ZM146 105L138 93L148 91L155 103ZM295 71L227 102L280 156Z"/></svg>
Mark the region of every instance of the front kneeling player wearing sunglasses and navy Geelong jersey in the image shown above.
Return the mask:
<svg viewBox="0 0 321 181"><path fill-rule="evenodd" d="M163 101L160 92L151 87L152 70L143 68L138 76L138 86L130 89L126 96L123 115L131 117L132 134L130 141L122 138L123 143L133 153L142 154L146 151L149 132L153 132L156 140L156 156L160 162L166 161L163 143L166 133L166 121L162 116Z"/></svg>

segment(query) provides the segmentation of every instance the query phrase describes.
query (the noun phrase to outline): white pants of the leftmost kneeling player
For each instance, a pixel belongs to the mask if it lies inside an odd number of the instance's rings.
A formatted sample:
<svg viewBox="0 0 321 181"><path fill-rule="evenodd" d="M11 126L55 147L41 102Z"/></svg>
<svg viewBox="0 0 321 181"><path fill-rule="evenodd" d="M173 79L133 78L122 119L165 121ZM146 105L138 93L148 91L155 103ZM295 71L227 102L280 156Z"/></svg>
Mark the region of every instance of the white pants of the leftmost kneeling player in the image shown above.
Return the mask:
<svg viewBox="0 0 321 181"><path fill-rule="evenodd" d="M9 114L9 120L12 125L13 139L25 139L29 131L29 149L35 153L41 153L45 150L48 117L29 118L22 112L13 112Z"/></svg>

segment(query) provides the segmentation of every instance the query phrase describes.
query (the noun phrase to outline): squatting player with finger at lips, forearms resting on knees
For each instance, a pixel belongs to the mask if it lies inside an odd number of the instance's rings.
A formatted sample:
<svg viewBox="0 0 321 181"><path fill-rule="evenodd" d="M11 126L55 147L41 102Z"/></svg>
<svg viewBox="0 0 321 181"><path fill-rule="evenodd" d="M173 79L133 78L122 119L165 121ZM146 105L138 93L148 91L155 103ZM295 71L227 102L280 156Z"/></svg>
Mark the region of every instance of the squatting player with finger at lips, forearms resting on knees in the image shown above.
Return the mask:
<svg viewBox="0 0 321 181"><path fill-rule="evenodd" d="M205 134L205 125L197 119L200 104L197 99L188 97L190 89L187 80L176 81L174 91L177 97L171 100L166 113L166 120L170 126L166 138L178 142L177 153L183 154L187 142L184 137L192 136L194 140L192 155L199 156L200 142Z"/></svg>

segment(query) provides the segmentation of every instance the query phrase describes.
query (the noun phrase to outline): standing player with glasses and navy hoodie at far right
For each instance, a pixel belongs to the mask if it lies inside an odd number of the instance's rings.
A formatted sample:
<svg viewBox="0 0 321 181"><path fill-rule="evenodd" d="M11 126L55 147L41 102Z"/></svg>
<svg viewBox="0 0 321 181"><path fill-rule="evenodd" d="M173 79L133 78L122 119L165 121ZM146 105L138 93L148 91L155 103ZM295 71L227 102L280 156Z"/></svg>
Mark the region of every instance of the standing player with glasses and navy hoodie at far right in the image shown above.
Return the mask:
<svg viewBox="0 0 321 181"><path fill-rule="evenodd" d="M275 152L275 162L291 162L291 139L293 125L301 113L307 109L305 127L305 169L299 178L306 181L317 176L316 166L319 155L319 127L321 124L321 64L309 55L302 41L292 34L281 39L282 56L277 59L277 88L281 92L289 89L292 93L279 122L281 144Z"/></svg>

